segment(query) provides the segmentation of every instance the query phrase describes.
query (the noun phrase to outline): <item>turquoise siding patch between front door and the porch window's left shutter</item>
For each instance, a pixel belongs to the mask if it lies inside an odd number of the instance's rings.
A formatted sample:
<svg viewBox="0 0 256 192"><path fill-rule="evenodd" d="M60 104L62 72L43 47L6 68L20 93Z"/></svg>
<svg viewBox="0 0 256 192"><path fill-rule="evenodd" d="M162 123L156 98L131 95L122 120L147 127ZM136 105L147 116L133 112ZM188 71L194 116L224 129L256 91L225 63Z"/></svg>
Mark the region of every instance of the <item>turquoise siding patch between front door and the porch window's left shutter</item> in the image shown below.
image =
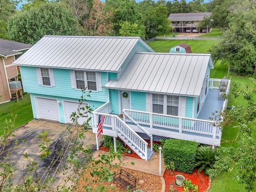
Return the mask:
<svg viewBox="0 0 256 192"><path fill-rule="evenodd" d="M146 93L131 92L132 110L146 111Z"/></svg>

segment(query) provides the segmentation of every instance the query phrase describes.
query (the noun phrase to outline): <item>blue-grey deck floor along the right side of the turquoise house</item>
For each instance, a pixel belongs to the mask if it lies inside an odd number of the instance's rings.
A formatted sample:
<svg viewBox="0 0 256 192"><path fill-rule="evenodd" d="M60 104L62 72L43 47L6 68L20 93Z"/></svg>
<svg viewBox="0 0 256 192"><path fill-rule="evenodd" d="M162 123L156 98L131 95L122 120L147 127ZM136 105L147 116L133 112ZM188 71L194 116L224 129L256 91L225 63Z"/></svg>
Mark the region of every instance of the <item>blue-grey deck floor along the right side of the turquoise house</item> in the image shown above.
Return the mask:
<svg viewBox="0 0 256 192"><path fill-rule="evenodd" d="M207 97L204 101L203 108L201 109L198 119L209 120L212 117L212 113L220 111L223 105L223 99L219 99L219 90L209 90Z"/></svg>

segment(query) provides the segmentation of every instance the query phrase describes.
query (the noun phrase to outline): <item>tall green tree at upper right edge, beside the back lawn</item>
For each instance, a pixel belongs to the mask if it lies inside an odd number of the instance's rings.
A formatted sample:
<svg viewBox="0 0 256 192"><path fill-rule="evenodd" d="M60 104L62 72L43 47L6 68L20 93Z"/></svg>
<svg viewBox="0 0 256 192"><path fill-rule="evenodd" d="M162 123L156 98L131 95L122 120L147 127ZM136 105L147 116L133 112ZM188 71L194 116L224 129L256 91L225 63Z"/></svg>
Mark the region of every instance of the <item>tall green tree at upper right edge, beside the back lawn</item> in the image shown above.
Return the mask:
<svg viewBox="0 0 256 192"><path fill-rule="evenodd" d="M229 29L211 49L215 61L233 66L239 74L256 74L256 9L249 0L238 1L230 12Z"/></svg>

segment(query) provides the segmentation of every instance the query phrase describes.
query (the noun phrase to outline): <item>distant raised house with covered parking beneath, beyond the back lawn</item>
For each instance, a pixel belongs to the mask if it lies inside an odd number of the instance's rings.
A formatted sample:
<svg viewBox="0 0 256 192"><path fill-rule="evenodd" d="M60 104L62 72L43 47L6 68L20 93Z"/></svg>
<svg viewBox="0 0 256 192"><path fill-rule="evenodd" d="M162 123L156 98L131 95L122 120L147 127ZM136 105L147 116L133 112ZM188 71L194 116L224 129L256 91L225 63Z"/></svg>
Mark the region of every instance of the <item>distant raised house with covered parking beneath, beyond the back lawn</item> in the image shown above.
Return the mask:
<svg viewBox="0 0 256 192"><path fill-rule="evenodd" d="M171 26L174 33L209 33L212 28L199 29L198 24L204 18L210 17L211 12L205 13L171 13L168 19L171 20Z"/></svg>

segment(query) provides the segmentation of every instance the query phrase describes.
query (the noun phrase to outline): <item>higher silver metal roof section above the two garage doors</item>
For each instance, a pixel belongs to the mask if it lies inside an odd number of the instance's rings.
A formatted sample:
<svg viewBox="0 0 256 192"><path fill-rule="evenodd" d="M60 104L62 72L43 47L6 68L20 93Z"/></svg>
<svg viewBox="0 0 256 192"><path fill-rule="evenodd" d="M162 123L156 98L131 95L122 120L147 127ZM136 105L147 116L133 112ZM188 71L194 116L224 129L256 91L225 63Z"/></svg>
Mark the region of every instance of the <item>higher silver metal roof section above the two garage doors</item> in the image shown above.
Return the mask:
<svg viewBox="0 0 256 192"><path fill-rule="evenodd" d="M44 36L14 64L117 72L138 41L149 47L140 37Z"/></svg>

